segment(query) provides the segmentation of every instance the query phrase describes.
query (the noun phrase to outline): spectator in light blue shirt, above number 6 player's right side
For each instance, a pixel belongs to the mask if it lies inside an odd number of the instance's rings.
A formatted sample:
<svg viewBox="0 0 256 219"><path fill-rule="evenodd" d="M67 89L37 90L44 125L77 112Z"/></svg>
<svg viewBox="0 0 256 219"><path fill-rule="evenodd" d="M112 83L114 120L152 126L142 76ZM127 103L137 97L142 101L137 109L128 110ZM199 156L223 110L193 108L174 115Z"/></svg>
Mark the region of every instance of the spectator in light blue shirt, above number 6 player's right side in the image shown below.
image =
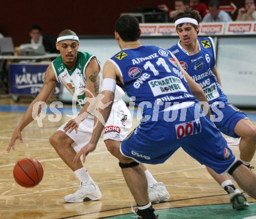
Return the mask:
<svg viewBox="0 0 256 219"><path fill-rule="evenodd" d="M204 16L204 19L202 19L202 22L233 21L228 13L224 12L223 10L219 10L219 1L218 0L209 1L208 11L209 11L209 13L207 13Z"/></svg>

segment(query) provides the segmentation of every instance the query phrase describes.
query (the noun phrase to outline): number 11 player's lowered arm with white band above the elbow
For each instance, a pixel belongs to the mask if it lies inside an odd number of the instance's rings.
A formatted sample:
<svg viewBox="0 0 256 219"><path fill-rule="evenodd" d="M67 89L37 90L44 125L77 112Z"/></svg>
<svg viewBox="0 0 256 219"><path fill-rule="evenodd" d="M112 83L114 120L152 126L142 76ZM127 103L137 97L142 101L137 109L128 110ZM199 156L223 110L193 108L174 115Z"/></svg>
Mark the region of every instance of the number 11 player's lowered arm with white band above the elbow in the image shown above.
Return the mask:
<svg viewBox="0 0 256 219"><path fill-rule="evenodd" d="M89 152L94 151L98 143L99 137L101 136L102 130L105 126L105 122L108 120L111 112L111 107L115 97L116 88L116 68L110 62L106 61L103 68L103 83L102 92L99 94L97 110L95 111L94 118L94 130L91 137L90 143L85 145L77 152L73 162L77 162L80 156L83 155L83 162L86 160L86 156Z"/></svg>

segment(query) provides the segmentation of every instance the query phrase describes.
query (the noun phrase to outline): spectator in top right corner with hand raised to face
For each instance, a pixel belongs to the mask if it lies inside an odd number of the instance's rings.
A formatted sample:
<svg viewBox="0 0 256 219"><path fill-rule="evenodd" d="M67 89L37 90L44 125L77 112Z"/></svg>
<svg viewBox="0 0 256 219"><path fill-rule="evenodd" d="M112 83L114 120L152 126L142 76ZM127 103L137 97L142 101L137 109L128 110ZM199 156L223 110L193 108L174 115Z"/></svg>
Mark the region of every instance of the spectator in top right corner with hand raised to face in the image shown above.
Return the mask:
<svg viewBox="0 0 256 219"><path fill-rule="evenodd" d="M240 8L236 17L236 21L252 21L256 20L255 0L246 0L246 8Z"/></svg>

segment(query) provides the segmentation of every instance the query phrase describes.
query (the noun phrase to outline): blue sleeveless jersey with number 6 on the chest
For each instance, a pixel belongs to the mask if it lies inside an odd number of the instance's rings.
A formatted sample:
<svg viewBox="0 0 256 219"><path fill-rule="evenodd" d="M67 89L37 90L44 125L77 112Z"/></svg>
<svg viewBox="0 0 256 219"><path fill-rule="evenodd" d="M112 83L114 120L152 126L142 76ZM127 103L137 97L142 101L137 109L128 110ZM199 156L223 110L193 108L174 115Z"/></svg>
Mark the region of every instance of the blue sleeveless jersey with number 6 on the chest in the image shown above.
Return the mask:
<svg viewBox="0 0 256 219"><path fill-rule="evenodd" d="M215 46L211 37L198 38L200 52L189 56L189 53L182 48L180 43L172 46L172 52L182 64L182 67L193 80L199 83L207 96L208 103L215 101L227 101L226 95L223 93L221 85L213 72L215 66ZM175 60L172 59L176 64Z"/></svg>

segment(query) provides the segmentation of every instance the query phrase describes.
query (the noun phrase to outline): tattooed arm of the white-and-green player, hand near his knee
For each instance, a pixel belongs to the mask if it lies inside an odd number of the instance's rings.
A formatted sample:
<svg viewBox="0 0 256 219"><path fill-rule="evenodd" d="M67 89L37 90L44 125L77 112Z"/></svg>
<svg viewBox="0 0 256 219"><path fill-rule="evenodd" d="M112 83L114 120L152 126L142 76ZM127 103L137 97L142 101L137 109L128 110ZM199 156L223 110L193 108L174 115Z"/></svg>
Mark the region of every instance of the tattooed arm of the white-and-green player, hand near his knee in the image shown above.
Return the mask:
<svg viewBox="0 0 256 219"><path fill-rule="evenodd" d="M65 132L78 132L78 126L88 115L93 114L96 104L97 96L99 94L99 71L100 67L96 59L91 59L84 72L86 76L86 104L74 119L70 119L66 126L63 128Z"/></svg>

